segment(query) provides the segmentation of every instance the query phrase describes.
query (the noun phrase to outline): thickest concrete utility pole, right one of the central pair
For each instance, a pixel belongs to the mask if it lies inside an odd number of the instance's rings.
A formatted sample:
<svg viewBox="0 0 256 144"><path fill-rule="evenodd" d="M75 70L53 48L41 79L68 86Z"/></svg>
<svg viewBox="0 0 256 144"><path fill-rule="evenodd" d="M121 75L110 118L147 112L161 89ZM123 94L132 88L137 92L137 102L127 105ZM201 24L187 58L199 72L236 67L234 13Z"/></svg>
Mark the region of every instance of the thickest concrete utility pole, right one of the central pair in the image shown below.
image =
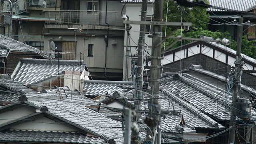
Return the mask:
<svg viewBox="0 0 256 144"><path fill-rule="evenodd" d="M163 4L164 0L155 0L154 7L154 18L153 21L163 21ZM161 44L162 41L162 26L154 25L153 33L152 33L152 54L151 54L151 66L150 66L150 87L152 90L152 98L158 98L159 96L159 79L161 74ZM159 120L159 109L158 108L158 99L152 99L149 101L151 105L149 105L149 110L152 113L149 113L150 117L152 117L153 124L149 125L150 130L147 130L147 140L154 142L154 137L156 136L156 126L158 125ZM153 134L152 134L153 132Z"/></svg>

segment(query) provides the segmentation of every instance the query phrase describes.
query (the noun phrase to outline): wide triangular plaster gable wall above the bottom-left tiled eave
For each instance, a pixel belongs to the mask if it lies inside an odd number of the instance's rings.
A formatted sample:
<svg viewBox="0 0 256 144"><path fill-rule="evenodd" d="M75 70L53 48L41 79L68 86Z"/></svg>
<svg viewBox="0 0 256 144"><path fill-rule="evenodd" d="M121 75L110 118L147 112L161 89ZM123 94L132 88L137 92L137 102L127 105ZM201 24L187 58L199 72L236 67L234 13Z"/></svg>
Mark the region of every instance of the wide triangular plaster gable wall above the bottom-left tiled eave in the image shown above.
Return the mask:
<svg viewBox="0 0 256 144"><path fill-rule="evenodd" d="M53 131L53 132L77 132L77 130L65 126L63 123L55 122L46 117L36 118L33 121L24 122L16 126L12 126L12 130L35 130L35 131Z"/></svg>

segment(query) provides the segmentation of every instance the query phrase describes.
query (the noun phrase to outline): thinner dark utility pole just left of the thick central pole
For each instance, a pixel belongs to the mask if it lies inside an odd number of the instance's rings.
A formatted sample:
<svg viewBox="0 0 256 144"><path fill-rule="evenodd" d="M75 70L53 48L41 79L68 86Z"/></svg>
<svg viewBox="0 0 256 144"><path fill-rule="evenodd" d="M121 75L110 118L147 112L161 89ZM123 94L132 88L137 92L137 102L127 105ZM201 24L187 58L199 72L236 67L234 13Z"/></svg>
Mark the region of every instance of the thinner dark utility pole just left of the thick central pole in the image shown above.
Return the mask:
<svg viewBox="0 0 256 144"><path fill-rule="evenodd" d="M140 21L146 21L147 17L147 0L142 0L142 6L141 6L141 17ZM142 88L143 88L143 64L144 64L144 56L143 56L143 50L144 50L144 42L145 42L145 31L146 30L146 24L140 24L140 37L138 40L138 79L136 80L136 91L138 95L138 99L142 98ZM134 106L135 110L140 110L140 100L134 100ZM140 120L140 113L137 112L137 114L134 116L134 121ZM138 136L137 132L135 130L132 130L132 138L131 138L131 144L138 144Z"/></svg>

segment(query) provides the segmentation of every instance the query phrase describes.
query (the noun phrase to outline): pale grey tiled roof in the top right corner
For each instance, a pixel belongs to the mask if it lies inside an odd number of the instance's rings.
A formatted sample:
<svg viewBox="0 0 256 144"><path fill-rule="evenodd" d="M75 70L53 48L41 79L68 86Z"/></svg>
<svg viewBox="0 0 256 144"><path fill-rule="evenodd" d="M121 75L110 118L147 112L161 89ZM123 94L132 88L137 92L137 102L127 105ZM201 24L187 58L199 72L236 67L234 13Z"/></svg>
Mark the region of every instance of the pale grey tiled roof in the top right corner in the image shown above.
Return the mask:
<svg viewBox="0 0 256 144"><path fill-rule="evenodd" d="M236 11L248 11L256 6L255 0L208 0L212 6L232 9ZM224 11L219 9L208 8L209 11Z"/></svg>

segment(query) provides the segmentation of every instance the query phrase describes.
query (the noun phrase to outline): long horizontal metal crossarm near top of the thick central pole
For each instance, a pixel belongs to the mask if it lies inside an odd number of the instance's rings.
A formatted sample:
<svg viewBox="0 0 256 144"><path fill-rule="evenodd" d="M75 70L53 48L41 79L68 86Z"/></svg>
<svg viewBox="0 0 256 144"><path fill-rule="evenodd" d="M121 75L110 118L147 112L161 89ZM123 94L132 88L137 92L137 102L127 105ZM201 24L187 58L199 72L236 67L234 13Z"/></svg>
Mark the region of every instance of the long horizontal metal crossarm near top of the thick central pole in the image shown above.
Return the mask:
<svg viewBox="0 0 256 144"><path fill-rule="evenodd" d="M154 21L124 20L123 23L124 24L158 25L158 26L192 26L191 22L154 22Z"/></svg>

